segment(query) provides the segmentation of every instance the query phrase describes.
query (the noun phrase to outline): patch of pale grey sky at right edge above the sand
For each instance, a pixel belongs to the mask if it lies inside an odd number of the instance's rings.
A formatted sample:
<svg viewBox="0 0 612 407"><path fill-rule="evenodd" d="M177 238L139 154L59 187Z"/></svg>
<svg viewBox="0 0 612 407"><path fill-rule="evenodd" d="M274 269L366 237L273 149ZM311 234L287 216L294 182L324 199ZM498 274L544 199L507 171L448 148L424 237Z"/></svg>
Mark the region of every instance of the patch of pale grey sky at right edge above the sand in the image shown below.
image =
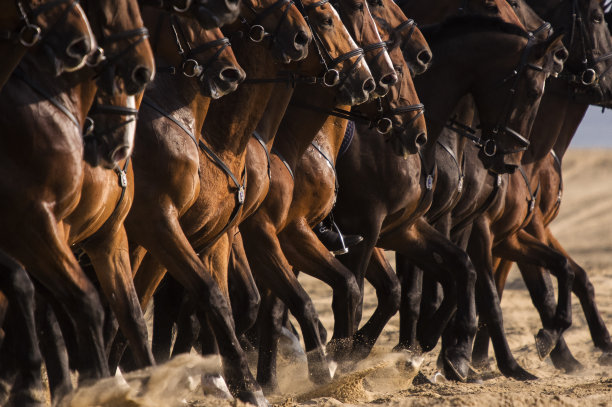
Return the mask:
<svg viewBox="0 0 612 407"><path fill-rule="evenodd" d="M576 148L612 148L612 110L591 106L578 127L571 147Z"/></svg>

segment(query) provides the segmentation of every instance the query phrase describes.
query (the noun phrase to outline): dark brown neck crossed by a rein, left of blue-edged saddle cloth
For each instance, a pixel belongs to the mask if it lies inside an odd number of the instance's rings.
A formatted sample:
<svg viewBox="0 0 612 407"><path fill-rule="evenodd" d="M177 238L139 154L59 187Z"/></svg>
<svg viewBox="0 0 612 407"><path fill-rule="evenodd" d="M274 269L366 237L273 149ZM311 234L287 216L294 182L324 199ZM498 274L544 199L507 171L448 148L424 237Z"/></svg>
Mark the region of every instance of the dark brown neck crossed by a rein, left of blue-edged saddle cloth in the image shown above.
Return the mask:
<svg viewBox="0 0 612 407"><path fill-rule="evenodd" d="M332 110L337 106L331 92L320 85L299 86L296 87L292 101ZM327 113L289 105L279 126L274 147L283 154L292 169L297 167L298 160L306 152L328 117Z"/></svg>

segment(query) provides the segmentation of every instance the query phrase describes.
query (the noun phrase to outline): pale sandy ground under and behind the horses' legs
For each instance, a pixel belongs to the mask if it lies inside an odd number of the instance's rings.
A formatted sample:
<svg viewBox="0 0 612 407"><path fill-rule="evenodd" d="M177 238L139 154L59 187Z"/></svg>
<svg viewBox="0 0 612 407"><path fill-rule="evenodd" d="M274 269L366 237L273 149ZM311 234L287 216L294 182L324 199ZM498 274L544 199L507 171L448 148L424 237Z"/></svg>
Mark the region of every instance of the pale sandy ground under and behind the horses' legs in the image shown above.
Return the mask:
<svg viewBox="0 0 612 407"><path fill-rule="evenodd" d="M596 299L604 320L612 324L612 150L574 150L564 160L565 196L561 213L554 223L554 232L589 273L596 289ZM388 253L392 258L392 253ZM308 276L301 282L312 296L317 312L332 332L331 290ZM376 305L374 290L366 285L363 321ZM314 388L307 379L303 361L279 362L280 393L269 400L277 405L393 405L393 406L608 406L612 405L612 366L601 366L597 358L601 352L594 348L580 305L573 297L573 326L566 332L566 341L584 369L564 374L554 369L549 359L541 361L536 353L533 335L541 322L517 270L511 272L504 292L502 308L510 347L518 362L539 380L519 382L500 375L491 357L491 371L484 372L483 384L450 383L443 379L437 384L414 387L411 378L416 371L404 354L393 354L397 344L399 317L396 315L385 328L372 355L355 372L339 377L328 386ZM490 350L490 356L492 351ZM425 355L421 370L433 377L436 373L438 348ZM253 360L254 361L254 360ZM187 363L188 360L185 360ZM414 362L414 361L413 361ZM202 361L190 362L197 367ZM194 367L194 369L195 369ZM151 397L127 397L131 402L103 401L100 392L108 388L121 389L121 381L107 382L94 391L96 397L71 406L161 406L161 405L229 405L215 399L202 399L199 380L193 370L186 372L168 367L158 377L173 377L168 384L155 382ZM252 364L253 370L255 364ZM158 368L160 369L160 368ZM144 383L139 377L128 382ZM180 385L177 385L180 383ZM164 390L162 391L162 386ZM168 399L173 386L181 387L180 397ZM106 390L105 390L106 389ZM129 390L126 390L129 392ZM135 391L133 393L140 393ZM104 397L103 397L104 398ZM122 397L119 397L121 399ZM111 397L112 399L112 397ZM171 400L172 399L172 400ZM86 401L89 400L89 401ZM96 400L96 401L94 401ZM75 399L76 401L76 399ZM240 403L238 403L240 404ZM235 404L234 404L235 405Z"/></svg>

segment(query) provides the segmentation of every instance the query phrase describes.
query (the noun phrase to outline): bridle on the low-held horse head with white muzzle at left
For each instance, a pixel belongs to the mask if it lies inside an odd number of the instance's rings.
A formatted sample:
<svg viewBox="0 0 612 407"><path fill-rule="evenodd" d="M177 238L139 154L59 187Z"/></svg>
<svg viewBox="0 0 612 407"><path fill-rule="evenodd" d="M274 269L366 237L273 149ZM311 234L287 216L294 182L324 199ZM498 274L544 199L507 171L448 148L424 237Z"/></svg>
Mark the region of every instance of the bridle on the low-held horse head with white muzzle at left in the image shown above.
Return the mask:
<svg viewBox="0 0 612 407"><path fill-rule="evenodd" d="M123 120L116 125L108 128L100 129L94 125L94 120L89 116L92 114L104 114L114 116L128 116L127 120ZM138 119L138 109L134 109L127 106L116 106L95 103L89 109L88 116L85 118L85 126L83 129L83 146L85 149L92 149L97 151L100 145L110 145L108 136L112 135L117 130L127 126L130 123L134 123ZM109 162L112 159L112 155L115 150L107 148L109 156L107 159Z"/></svg>

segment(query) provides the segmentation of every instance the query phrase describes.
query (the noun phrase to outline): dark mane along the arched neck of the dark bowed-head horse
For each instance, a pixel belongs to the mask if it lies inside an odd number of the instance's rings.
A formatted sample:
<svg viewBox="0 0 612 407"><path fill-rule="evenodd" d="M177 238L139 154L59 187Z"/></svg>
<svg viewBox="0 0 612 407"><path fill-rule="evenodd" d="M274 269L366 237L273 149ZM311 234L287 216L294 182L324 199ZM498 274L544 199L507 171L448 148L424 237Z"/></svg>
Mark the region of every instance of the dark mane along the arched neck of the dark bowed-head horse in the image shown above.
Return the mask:
<svg viewBox="0 0 612 407"><path fill-rule="evenodd" d="M427 41L439 41L461 35L474 33L499 32L529 38L529 33L515 24L510 24L499 17L467 14L449 17L439 24L421 28Z"/></svg>

